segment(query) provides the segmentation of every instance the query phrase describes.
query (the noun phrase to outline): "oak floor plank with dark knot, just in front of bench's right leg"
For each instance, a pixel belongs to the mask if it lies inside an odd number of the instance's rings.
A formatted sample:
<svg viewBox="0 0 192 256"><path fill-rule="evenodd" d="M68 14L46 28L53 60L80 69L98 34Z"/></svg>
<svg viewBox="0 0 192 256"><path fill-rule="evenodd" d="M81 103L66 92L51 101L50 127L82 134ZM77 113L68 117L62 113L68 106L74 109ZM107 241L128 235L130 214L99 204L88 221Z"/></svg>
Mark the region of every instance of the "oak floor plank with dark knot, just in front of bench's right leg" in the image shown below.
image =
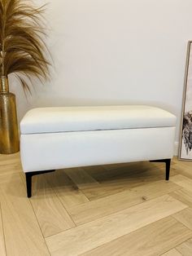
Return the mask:
<svg viewBox="0 0 192 256"><path fill-rule="evenodd" d="M82 205L68 208L76 225L92 221L117 211L124 210L133 205L149 201L155 197L162 196L168 192L180 189L177 184L166 181L149 183L112 196L106 196L97 201L90 201Z"/></svg>

